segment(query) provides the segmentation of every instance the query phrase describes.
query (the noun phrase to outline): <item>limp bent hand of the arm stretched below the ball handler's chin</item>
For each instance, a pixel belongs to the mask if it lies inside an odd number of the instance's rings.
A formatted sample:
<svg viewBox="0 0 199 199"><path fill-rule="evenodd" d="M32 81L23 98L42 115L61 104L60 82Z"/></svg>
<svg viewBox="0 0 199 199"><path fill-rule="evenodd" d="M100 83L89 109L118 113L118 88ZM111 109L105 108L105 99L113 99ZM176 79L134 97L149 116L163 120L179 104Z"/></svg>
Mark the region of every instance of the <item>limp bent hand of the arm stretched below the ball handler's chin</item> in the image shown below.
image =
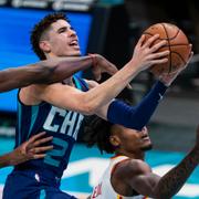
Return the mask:
<svg viewBox="0 0 199 199"><path fill-rule="evenodd" d="M107 61L104 56L100 54L90 54L90 56L93 57L92 72L96 81L101 80L102 73L114 75L118 71L117 67Z"/></svg>

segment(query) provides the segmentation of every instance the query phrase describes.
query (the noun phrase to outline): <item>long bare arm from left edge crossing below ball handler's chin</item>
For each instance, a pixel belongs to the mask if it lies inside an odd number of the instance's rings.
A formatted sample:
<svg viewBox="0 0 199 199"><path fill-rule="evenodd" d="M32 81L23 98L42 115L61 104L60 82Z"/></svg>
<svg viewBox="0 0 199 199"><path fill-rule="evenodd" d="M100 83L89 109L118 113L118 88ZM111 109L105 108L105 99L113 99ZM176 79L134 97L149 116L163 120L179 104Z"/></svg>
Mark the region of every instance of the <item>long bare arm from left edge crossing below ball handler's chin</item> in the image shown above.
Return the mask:
<svg viewBox="0 0 199 199"><path fill-rule="evenodd" d="M96 80L101 78L101 73L103 72L107 72L111 75L117 72L116 66L100 54L80 57L56 57L0 71L0 92L30 84L60 82L91 66Z"/></svg>

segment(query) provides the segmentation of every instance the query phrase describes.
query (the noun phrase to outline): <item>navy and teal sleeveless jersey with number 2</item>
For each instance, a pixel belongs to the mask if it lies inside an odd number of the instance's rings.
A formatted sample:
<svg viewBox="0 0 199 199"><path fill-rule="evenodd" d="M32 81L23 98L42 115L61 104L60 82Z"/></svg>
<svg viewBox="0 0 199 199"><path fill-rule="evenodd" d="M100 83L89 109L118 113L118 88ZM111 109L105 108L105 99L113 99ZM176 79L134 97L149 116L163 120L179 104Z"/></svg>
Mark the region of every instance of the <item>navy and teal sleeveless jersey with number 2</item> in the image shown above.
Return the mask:
<svg viewBox="0 0 199 199"><path fill-rule="evenodd" d="M87 84L82 78L73 76L73 80L75 87L87 91ZM67 167L83 118L80 113L62 109L46 102L29 106L19 100L15 147L32 135L46 132L48 136L53 136L53 140L48 144L53 145L53 149L48 151L43 159L27 161L15 166L15 169L41 169L43 174L48 174L46 176L52 174L53 177L60 178Z"/></svg>

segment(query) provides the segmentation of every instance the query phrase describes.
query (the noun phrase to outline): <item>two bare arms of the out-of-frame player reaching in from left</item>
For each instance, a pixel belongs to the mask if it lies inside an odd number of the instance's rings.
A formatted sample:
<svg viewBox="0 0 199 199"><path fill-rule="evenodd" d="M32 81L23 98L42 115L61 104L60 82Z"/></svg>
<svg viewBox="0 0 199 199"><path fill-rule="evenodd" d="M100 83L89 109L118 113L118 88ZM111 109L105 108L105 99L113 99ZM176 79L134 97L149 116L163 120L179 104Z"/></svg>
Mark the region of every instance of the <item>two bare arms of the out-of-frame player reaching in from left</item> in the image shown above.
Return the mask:
<svg viewBox="0 0 199 199"><path fill-rule="evenodd" d="M101 73L103 72L109 74L117 72L116 66L100 54L51 59L25 66L0 71L0 93L30 84L59 82L91 66L93 66L92 71L96 80L101 78ZM41 136L43 134L34 135L13 151L0 156L0 168L14 166L29 159L43 158L45 155L42 153L52 149L52 146L39 147L39 144L49 142L52 137L43 138Z"/></svg>

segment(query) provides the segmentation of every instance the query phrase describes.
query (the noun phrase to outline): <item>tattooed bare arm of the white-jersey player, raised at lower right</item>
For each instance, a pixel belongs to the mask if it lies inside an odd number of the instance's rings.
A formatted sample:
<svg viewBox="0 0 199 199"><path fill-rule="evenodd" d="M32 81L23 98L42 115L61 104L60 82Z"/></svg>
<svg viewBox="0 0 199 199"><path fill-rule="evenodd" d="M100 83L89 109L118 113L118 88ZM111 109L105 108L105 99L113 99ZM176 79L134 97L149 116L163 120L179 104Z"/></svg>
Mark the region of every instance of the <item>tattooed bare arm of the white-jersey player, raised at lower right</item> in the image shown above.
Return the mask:
<svg viewBox="0 0 199 199"><path fill-rule="evenodd" d="M132 189L151 198L170 199L181 189L199 164L199 128L197 129L196 146L180 164L163 177L153 174L149 166L142 160L136 163L132 160L125 164L121 170L117 170L117 176L124 179L124 182Z"/></svg>

